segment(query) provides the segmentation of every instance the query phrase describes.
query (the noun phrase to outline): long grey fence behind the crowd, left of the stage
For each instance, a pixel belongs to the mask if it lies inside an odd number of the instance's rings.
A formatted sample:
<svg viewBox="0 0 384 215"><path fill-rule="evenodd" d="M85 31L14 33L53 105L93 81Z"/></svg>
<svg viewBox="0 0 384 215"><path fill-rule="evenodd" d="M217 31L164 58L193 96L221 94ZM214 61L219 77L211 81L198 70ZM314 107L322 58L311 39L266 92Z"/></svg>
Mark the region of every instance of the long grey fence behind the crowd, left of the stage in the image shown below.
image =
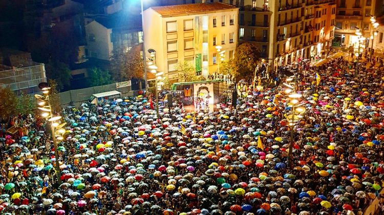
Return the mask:
<svg viewBox="0 0 384 215"><path fill-rule="evenodd" d="M71 90L67 92L58 93L60 98L61 107L76 106L80 107L82 103L87 102L88 99L96 93L103 93L108 91L119 91L121 97L137 96L140 90L132 91L131 86L116 88L116 83L102 85L92 88L84 88L79 90Z"/></svg>

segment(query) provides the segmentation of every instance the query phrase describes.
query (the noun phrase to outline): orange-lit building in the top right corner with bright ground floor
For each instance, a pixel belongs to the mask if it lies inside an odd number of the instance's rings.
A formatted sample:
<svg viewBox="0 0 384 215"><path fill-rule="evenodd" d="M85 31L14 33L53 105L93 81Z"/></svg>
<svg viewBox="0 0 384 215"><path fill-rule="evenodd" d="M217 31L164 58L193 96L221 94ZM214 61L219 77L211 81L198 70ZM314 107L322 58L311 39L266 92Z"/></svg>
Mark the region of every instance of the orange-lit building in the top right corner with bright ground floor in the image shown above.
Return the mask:
<svg viewBox="0 0 384 215"><path fill-rule="evenodd" d="M366 46L371 42L374 28L371 16L380 16L383 13L382 0L336 0L336 30L334 47L358 47L356 29L360 29L362 36L366 37Z"/></svg>

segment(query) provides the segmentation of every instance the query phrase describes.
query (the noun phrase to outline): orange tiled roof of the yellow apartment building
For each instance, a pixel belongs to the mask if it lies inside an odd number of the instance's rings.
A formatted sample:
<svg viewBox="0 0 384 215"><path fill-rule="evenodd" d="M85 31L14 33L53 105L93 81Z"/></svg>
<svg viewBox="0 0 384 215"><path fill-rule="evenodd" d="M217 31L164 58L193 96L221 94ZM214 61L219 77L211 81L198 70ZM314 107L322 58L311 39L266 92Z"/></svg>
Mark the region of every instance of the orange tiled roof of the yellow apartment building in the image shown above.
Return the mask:
<svg viewBox="0 0 384 215"><path fill-rule="evenodd" d="M203 12L217 11L217 10L224 10L224 9L234 9L237 7L233 5L220 3L220 2L215 2L215 3L151 7L151 8L162 16L170 16L170 15L181 15L186 13L199 13L199 12L203 13Z"/></svg>

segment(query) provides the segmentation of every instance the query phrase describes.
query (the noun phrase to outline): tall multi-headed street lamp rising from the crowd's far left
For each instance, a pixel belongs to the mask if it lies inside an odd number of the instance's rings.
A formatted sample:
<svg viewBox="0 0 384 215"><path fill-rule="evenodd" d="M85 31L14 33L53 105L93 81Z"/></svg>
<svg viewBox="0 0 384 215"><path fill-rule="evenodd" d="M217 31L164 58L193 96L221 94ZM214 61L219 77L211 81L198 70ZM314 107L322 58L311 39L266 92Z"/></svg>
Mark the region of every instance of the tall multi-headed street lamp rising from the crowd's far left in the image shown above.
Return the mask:
<svg viewBox="0 0 384 215"><path fill-rule="evenodd" d="M56 177L58 184L61 184L60 179L60 165L59 165L59 155L57 151L57 142L56 140L62 140L62 135L66 132L62 127L66 125L66 122L59 123L59 120L61 119L61 116L53 116L52 113L52 106L50 103L50 90L48 83L43 82L39 84L39 87L43 86L41 88L43 95L36 94L35 98L38 100L38 105L40 107L37 107L37 109L42 111L41 116L46 118L48 122L51 123L51 132L52 132L52 140L53 140L53 147L55 150L55 169L56 169Z"/></svg>

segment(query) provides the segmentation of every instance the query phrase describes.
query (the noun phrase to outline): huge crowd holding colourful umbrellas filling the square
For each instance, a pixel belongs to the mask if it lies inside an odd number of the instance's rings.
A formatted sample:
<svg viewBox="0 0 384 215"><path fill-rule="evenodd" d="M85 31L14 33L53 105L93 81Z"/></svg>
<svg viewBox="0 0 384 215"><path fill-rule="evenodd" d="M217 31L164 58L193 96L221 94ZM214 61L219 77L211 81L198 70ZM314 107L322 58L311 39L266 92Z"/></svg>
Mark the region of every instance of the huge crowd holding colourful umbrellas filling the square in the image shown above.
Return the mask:
<svg viewBox="0 0 384 215"><path fill-rule="evenodd" d="M35 117L0 138L0 213L362 214L383 186L384 76L346 63L327 63L319 84L309 68L296 76L306 113L293 142L283 84L248 84L236 108L208 113L160 105L156 117L144 95L66 107L59 158Z"/></svg>

